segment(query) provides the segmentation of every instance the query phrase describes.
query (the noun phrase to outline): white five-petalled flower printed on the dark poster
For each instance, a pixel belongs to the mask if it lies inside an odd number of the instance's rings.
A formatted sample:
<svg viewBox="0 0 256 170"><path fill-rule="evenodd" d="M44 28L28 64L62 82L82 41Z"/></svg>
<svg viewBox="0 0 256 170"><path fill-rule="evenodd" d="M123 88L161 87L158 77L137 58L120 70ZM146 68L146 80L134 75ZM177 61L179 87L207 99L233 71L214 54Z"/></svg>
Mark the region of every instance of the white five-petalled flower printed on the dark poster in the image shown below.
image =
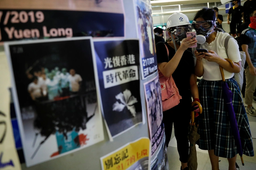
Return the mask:
<svg viewBox="0 0 256 170"><path fill-rule="evenodd" d="M127 107L127 109L131 112L131 114L135 117L136 115L136 110L135 110L135 106L134 104L137 103L137 98L135 98L134 96L132 96L131 91L130 90L125 90L123 91L123 93L119 93L115 96L115 98L117 100L120 100L121 103L119 103L118 101L116 101L113 104L113 111L117 111L117 112L121 112L123 111L123 109L125 107Z"/></svg>

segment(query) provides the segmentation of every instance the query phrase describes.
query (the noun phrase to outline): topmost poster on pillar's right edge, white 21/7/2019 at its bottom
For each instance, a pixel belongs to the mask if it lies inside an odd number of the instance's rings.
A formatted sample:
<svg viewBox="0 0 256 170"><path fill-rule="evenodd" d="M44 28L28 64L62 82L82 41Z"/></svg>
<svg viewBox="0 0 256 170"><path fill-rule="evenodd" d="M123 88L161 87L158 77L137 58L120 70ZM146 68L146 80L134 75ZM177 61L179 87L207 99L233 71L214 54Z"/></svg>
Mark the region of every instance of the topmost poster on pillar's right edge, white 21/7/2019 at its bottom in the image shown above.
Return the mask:
<svg viewBox="0 0 256 170"><path fill-rule="evenodd" d="M156 46L150 0L133 0L137 17L137 36L140 38L142 79L157 71Z"/></svg>

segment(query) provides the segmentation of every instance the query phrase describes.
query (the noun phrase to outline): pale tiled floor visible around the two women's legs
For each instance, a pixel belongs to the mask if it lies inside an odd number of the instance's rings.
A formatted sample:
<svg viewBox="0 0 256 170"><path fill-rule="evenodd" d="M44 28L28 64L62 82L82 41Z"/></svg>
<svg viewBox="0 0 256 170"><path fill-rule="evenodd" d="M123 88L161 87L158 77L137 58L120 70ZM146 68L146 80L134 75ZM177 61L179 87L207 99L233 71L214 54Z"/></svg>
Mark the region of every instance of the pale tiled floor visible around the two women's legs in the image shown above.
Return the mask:
<svg viewBox="0 0 256 170"><path fill-rule="evenodd" d="M253 107L256 108L256 101L253 101ZM247 116L248 116L248 120L251 128L251 134L252 134L252 137L254 138L253 145L255 146L254 153L256 155L256 117L250 116L249 114L247 114ZM169 146L167 148L167 154L168 154L170 170L180 170L181 164L179 161L177 142L174 136L174 128L172 129L172 137L171 137ZM228 160L226 158L219 158L219 160L220 160L219 162L220 170L228 170ZM256 156L249 157L249 156L243 155L245 166L242 165L240 160L241 160L240 156L238 155L236 162L240 167L240 170L256 170ZM208 151L201 150L198 148L198 146L197 146L197 162L198 162L197 170L211 170L211 163L210 163L210 158L208 156Z"/></svg>

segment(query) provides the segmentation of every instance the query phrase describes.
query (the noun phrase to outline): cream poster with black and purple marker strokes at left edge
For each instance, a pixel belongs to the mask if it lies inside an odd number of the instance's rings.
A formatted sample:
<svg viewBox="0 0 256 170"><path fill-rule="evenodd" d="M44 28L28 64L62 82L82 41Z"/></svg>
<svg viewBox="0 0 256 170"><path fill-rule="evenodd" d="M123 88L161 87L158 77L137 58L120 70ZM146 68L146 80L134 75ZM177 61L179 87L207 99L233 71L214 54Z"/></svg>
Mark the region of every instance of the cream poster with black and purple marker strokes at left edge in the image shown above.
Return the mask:
<svg viewBox="0 0 256 170"><path fill-rule="evenodd" d="M21 170L11 125L10 69L4 52L0 52L0 169Z"/></svg>

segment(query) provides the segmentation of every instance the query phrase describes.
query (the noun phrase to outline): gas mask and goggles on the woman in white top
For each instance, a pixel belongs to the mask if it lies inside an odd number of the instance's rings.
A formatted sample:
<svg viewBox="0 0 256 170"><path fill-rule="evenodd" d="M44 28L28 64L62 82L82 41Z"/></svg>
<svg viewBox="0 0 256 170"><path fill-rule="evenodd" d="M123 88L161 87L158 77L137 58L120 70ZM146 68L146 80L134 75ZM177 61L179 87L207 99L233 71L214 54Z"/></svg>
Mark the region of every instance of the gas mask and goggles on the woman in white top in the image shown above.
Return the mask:
<svg viewBox="0 0 256 170"><path fill-rule="evenodd" d="M197 43L203 44L206 42L209 35L212 33L215 25L215 21L208 20L208 21L193 21L192 26L197 32Z"/></svg>

